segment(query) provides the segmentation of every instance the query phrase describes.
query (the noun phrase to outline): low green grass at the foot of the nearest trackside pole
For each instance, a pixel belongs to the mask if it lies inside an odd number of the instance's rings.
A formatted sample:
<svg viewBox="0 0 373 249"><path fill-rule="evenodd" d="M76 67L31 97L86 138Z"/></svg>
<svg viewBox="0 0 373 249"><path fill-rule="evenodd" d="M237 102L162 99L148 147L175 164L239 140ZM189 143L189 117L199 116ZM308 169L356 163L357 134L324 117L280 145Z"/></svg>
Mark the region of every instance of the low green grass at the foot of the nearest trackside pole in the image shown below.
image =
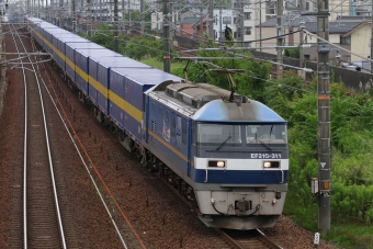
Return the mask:
<svg viewBox="0 0 373 249"><path fill-rule="evenodd" d="M318 231L317 202L310 205L301 205L295 197L289 194L284 214L301 227L313 233ZM346 249L373 249L373 226L332 213L331 216L330 230L326 235L321 235L323 239Z"/></svg>

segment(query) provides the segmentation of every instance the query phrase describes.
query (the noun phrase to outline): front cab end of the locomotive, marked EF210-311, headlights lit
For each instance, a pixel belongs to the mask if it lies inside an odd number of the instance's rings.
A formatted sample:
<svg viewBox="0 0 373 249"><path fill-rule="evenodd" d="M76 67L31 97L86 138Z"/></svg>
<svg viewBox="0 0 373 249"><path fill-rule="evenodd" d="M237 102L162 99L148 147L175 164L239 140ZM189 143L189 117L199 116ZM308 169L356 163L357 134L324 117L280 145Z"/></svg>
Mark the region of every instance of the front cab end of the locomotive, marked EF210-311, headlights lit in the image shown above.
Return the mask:
<svg viewBox="0 0 373 249"><path fill-rule="evenodd" d="M273 226L287 192L286 121L260 102L222 100L193 120L191 176L201 220L234 229Z"/></svg>

